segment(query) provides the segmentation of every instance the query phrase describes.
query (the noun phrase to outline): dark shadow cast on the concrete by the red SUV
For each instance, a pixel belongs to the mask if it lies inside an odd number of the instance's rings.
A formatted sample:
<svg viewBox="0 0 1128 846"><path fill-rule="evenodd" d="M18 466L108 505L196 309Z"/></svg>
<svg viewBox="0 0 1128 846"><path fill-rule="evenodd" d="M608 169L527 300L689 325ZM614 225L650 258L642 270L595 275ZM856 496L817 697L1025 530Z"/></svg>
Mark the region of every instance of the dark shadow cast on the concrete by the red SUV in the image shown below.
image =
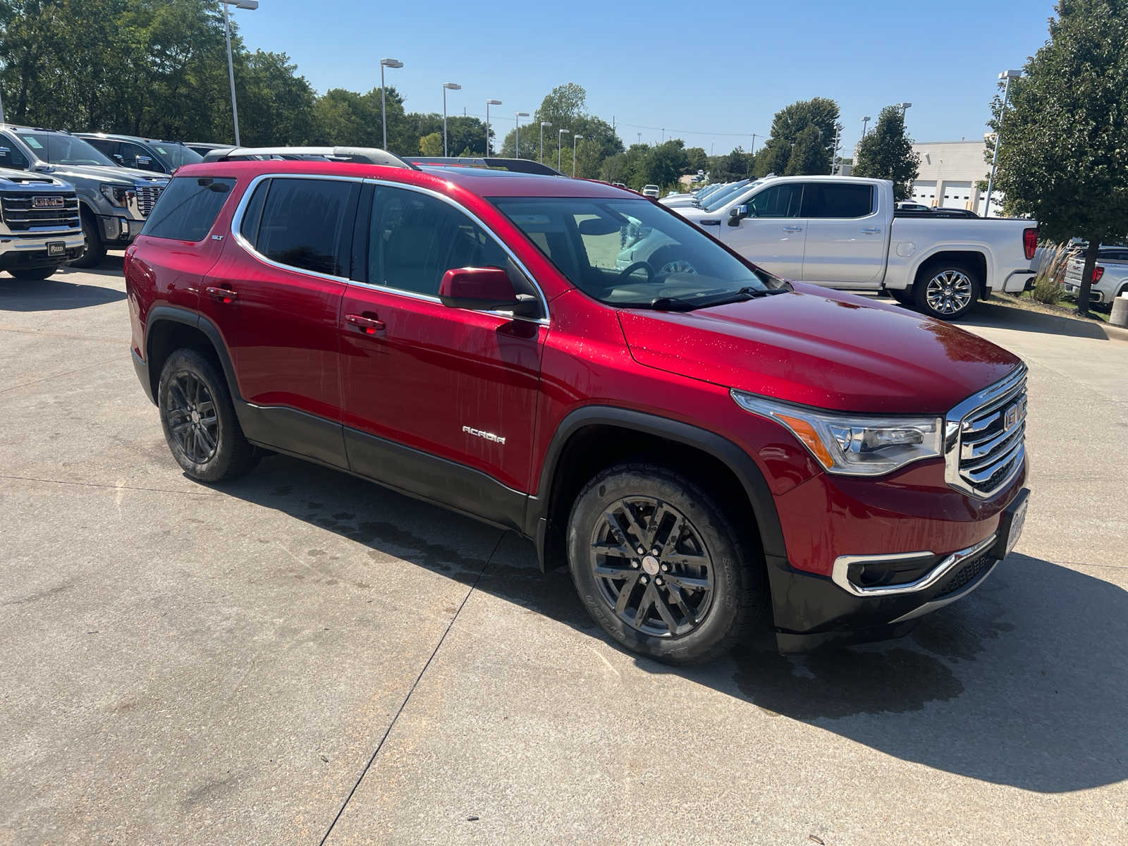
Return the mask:
<svg viewBox="0 0 1128 846"><path fill-rule="evenodd" d="M217 490L476 581L609 643L569 574L541 575L531 544L515 535L285 457ZM501 544L485 572L453 540L482 548L491 536ZM1042 793L1128 778L1128 592L1040 558L1012 555L972 596L900 641L785 658L766 636L698 668L632 658L646 672L971 778Z"/></svg>

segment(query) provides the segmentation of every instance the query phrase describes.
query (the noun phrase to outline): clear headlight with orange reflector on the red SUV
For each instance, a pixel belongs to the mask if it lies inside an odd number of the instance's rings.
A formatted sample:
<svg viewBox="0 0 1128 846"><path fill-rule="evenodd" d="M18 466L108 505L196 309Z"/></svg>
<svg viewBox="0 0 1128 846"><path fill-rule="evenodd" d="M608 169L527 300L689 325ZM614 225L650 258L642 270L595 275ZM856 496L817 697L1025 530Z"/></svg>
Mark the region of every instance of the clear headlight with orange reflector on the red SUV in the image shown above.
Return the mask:
<svg viewBox="0 0 1128 846"><path fill-rule="evenodd" d="M881 476L923 458L943 455L940 417L870 417L821 412L731 391L744 411L783 424L828 473Z"/></svg>

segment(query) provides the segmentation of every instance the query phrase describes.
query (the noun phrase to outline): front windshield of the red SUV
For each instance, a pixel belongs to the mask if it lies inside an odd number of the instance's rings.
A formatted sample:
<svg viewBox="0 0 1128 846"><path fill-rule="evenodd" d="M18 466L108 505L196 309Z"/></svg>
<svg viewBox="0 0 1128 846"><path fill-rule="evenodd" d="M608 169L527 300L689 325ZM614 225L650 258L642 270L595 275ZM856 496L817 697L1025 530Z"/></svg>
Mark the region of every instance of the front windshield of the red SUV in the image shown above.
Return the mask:
<svg viewBox="0 0 1128 846"><path fill-rule="evenodd" d="M688 310L778 288L645 200L494 197L576 288L610 306Z"/></svg>

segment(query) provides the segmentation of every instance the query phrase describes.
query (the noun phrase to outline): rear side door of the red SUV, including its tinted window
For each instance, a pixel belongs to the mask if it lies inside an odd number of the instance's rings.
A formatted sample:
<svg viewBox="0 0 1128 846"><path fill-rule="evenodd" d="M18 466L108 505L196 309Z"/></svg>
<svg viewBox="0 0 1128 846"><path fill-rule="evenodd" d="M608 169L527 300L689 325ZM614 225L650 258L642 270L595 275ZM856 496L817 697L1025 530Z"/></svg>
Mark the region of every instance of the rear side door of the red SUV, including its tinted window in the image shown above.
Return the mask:
<svg viewBox="0 0 1128 846"><path fill-rule="evenodd" d="M341 467L337 314L359 195L355 179L258 177L200 298L253 406L247 437Z"/></svg>

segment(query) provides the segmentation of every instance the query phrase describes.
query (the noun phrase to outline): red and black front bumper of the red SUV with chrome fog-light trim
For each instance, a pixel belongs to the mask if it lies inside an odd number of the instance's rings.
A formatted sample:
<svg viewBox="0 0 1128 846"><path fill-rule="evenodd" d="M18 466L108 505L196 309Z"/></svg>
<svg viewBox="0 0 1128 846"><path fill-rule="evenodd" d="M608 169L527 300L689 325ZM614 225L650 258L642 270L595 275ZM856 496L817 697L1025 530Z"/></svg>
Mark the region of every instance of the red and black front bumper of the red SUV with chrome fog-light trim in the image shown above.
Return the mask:
<svg viewBox="0 0 1128 846"><path fill-rule="evenodd" d="M795 536L797 527L788 531L784 518L788 510L781 509L788 559L768 556L767 561L779 651L805 652L829 643L900 637L920 617L975 591L1022 531L1029 496L1024 481L1025 467L988 501L971 501L954 490L937 491L934 495L943 502L934 503L934 515L923 517L911 513L914 505L924 504L923 499L914 501L911 492L902 495L902 513L890 511L892 503L883 501L892 491L878 492L874 499L880 504L854 500L844 506L837 481L823 479L825 491L839 495L830 497L826 510L807 514L826 519L830 529L822 532L819 521L810 520L803 540ZM810 482L818 485L817 479ZM804 492L808 504L821 493ZM836 522L849 523L854 530L832 540ZM884 550L869 552L879 548L882 540ZM828 547L844 544L845 548L827 557ZM792 562L799 559L825 572L796 569Z"/></svg>

